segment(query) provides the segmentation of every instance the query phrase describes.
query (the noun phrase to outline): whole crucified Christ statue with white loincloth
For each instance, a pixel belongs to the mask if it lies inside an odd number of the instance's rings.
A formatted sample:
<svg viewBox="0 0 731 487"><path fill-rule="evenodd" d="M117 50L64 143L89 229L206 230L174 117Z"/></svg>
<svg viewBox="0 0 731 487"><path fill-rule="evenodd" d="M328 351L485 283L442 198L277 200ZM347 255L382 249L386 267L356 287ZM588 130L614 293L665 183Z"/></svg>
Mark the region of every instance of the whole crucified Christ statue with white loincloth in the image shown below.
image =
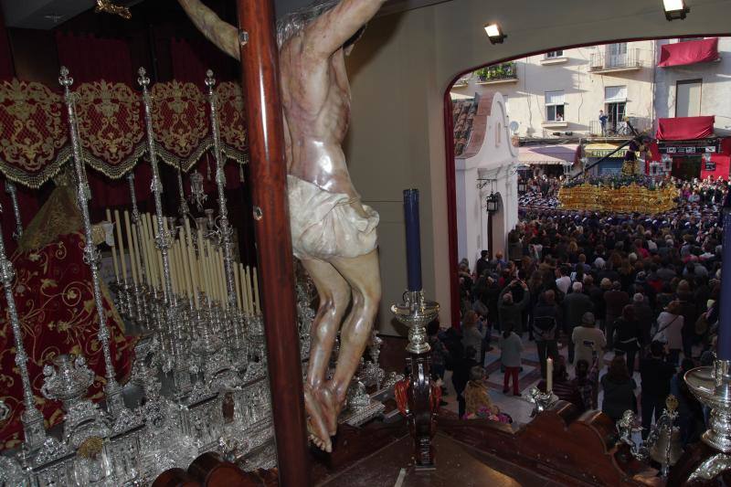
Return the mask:
<svg viewBox="0 0 731 487"><path fill-rule="evenodd" d="M178 1L209 40L239 58L236 27L199 0ZM277 23L292 247L320 298L304 403L310 439L326 451L381 299L378 214L361 203L341 143L350 118L344 57L383 2L325 0ZM338 329L340 352L328 380Z"/></svg>

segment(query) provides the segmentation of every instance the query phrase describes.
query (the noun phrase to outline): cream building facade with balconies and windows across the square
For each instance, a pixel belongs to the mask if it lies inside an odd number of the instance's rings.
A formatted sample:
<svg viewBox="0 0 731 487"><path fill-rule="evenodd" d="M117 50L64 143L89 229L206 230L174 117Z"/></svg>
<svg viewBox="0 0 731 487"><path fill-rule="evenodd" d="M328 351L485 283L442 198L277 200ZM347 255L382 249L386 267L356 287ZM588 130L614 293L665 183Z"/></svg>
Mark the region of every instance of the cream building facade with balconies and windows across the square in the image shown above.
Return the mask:
<svg viewBox="0 0 731 487"><path fill-rule="evenodd" d="M500 90L521 138L601 135L600 110L612 133L624 116L651 130L655 49L649 40L550 51L475 71L451 92Z"/></svg>

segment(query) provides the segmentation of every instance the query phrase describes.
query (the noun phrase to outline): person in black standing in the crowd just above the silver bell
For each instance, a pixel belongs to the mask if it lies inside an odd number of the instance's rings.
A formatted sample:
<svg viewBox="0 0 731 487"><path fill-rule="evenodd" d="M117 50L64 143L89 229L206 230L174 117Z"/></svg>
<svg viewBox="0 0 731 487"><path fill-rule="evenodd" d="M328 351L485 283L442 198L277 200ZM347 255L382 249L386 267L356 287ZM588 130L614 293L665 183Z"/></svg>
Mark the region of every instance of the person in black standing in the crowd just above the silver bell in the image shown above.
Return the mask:
<svg viewBox="0 0 731 487"><path fill-rule="evenodd" d="M662 415L665 399L670 394L670 381L675 374L675 366L665 361L664 344L654 341L650 344L650 356L640 361L640 381L642 387L642 439L647 439L655 421Z"/></svg>

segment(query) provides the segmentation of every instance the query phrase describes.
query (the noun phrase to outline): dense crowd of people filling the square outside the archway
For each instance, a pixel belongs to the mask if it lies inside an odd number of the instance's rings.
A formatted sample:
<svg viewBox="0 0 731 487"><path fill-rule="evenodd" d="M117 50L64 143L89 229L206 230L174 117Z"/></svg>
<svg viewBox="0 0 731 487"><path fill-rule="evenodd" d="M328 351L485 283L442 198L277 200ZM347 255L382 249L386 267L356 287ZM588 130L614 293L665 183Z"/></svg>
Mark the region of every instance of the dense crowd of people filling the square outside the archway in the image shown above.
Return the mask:
<svg viewBox="0 0 731 487"><path fill-rule="evenodd" d="M541 185L528 186L544 194ZM550 197L555 187L544 186ZM614 421L628 409L641 413L645 438L672 393L683 444L699 439L705 411L683 375L713 360L727 186L678 187L678 207L665 215L523 208L507 255L483 250L473 266L461 261L461 327L429 329L437 376L453 371L461 417L503 419L486 389L477 402L471 390L485 353L500 348L503 393L519 395L521 352L534 341L539 388L550 357L557 397Z"/></svg>

